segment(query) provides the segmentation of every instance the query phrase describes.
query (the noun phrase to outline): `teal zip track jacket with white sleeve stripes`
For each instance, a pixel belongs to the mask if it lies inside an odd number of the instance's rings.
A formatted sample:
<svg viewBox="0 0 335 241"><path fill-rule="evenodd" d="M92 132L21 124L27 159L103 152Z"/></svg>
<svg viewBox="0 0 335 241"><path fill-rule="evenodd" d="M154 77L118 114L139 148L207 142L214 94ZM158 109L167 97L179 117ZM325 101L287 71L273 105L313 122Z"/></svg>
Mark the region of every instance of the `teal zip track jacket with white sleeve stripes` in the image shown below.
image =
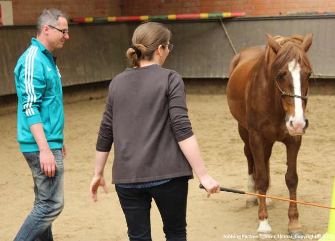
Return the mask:
<svg viewBox="0 0 335 241"><path fill-rule="evenodd" d="M42 123L50 149L63 148L64 109L59 70L54 57L36 38L14 70L18 96L17 141L22 152L39 151L30 130Z"/></svg>

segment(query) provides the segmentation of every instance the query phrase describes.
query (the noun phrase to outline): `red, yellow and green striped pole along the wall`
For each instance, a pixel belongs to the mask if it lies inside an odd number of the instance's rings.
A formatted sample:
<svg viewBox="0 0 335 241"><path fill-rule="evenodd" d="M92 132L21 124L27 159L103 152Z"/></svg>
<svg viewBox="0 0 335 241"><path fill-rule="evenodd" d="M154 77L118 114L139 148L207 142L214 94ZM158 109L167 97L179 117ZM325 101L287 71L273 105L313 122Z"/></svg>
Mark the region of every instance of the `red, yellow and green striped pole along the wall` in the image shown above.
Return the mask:
<svg viewBox="0 0 335 241"><path fill-rule="evenodd" d="M129 21L153 21L153 20L177 20L177 19L209 19L209 18L234 18L243 17L245 12L225 12L225 13L195 13L195 14L170 14L170 15L141 15L141 16L121 16L121 17L88 17L74 18L74 23L93 22L129 22Z"/></svg>

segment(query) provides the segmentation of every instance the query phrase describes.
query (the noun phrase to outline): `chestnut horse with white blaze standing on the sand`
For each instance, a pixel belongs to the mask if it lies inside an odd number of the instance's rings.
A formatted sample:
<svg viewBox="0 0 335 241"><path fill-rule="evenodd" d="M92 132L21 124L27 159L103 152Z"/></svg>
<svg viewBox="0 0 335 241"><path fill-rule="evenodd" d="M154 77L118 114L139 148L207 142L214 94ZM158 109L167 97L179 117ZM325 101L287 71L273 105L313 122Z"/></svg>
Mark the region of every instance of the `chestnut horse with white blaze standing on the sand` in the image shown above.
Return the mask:
<svg viewBox="0 0 335 241"><path fill-rule="evenodd" d="M306 52L313 34L267 37L263 47L250 47L233 57L229 64L227 100L248 160L249 192L266 195L269 187L269 159L274 143L282 142L287 151L286 185L290 199L297 200L297 156L301 136L308 127L305 108L308 79L312 74ZM258 205L256 196L247 205ZM302 235L297 203L290 202L290 235ZM260 197L259 234L271 232L265 198Z"/></svg>

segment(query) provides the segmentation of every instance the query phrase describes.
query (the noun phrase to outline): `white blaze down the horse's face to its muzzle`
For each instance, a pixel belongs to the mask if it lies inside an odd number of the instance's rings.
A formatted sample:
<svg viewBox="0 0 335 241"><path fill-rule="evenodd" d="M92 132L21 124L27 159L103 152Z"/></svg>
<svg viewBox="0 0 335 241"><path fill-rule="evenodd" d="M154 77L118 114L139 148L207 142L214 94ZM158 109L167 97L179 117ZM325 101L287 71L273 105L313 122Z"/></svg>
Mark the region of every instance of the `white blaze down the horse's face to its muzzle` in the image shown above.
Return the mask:
<svg viewBox="0 0 335 241"><path fill-rule="evenodd" d="M300 83L300 65L296 63L296 60L289 62L289 70L293 78L294 94L301 96L301 83ZM290 116L287 122L287 128L291 134L301 135L306 125L306 121L303 117L302 99L294 97L295 102L295 116Z"/></svg>

